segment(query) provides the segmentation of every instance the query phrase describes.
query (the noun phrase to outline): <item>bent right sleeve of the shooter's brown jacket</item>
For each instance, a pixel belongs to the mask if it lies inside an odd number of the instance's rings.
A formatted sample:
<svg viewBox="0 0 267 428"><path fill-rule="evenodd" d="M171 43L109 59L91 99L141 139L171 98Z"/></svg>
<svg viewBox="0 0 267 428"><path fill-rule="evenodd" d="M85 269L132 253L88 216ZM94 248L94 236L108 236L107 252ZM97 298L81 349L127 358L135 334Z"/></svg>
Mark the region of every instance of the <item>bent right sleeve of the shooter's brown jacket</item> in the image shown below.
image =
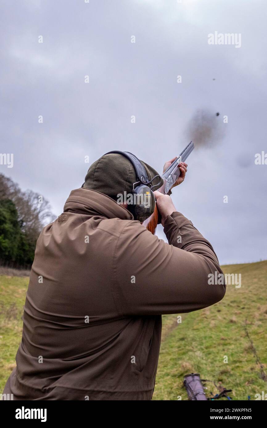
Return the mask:
<svg viewBox="0 0 267 428"><path fill-rule="evenodd" d="M152 235L138 221L127 222L114 253L114 293L122 316L191 312L225 294L208 275L222 273L211 244L179 212L168 216L168 239Z"/></svg>

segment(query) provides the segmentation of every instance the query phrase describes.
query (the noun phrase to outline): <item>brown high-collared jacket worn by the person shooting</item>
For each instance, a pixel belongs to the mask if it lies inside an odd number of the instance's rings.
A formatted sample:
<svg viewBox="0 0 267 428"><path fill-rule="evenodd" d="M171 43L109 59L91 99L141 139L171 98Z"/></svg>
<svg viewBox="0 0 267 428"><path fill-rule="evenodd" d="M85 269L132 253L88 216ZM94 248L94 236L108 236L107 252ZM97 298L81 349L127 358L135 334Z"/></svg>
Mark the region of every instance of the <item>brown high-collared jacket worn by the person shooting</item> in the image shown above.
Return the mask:
<svg viewBox="0 0 267 428"><path fill-rule="evenodd" d="M150 400L161 315L225 294L225 285L208 285L208 274L222 270L191 221L174 212L164 232L170 245L108 196L72 190L37 241L17 367L4 392L16 400Z"/></svg>

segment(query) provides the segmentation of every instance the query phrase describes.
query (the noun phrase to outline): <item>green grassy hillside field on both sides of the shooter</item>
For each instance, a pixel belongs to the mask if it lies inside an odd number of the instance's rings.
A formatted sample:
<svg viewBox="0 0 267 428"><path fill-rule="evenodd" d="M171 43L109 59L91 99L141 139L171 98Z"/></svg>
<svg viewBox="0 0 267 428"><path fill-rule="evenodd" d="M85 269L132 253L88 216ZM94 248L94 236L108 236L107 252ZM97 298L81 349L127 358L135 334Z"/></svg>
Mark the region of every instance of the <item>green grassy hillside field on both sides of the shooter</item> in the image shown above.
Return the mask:
<svg viewBox="0 0 267 428"><path fill-rule="evenodd" d="M177 315L163 316L153 400L186 400L183 377L192 372L232 389L233 400L267 392L267 261L223 270L241 273L241 287L228 285L221 302L182 314L180 324ZM27 277L0 276L0 392L15 366L27 285ZM208 396L218 392L207 387Z"/></svg>

